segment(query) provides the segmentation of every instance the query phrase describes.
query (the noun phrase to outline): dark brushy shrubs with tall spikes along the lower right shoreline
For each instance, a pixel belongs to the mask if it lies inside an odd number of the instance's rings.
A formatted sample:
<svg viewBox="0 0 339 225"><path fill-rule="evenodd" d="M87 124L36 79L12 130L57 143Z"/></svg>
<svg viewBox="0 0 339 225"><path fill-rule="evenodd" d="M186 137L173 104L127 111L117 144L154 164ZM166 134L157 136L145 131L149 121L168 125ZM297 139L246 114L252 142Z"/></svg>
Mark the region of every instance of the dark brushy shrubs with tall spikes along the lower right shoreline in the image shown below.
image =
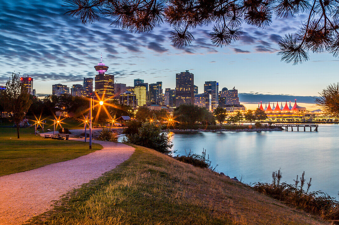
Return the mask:
<svg viewBox="0 0 339 225"><path fill-rule="evenodd" d="M280 170L272 173L272 183L254 183L253 189L284 201L288 205L301 208L307 213L321 216L327 220L339 220L339 202L331 196L317 191L310 192L312 178L308 183L305 183L305 172L300 177L300 180L294 180L294 184L280 183ZM300 183L300 184L299 184ZM305 188L307 184L307 188Z"/></svg>

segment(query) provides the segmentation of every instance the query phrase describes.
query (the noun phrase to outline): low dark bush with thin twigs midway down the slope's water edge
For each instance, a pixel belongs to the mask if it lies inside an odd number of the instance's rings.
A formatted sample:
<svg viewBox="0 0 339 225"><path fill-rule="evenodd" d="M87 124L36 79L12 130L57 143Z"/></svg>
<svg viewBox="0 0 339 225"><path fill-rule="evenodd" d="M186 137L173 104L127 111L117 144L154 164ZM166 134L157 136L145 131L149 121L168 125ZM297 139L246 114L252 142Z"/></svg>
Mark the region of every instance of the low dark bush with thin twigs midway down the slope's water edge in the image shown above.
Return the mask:
<svg viewBox="0 0 339 225"><path fill-rule="evenodd" d="M215 171L216 167L212 167L211 166L211 161L210 161L210 157L207 155L206 158L206 150L203 149L201 155L192 153L192 151L190 150L190 152L188 152L188 154L186 155L178 155L176 157L176 159L178 161L181 161L183 163L188 163L191 164L195 167L200 167L200 168L207 168L210 169L212 171ZM218 165L217 165L218 166Z"/></svg>

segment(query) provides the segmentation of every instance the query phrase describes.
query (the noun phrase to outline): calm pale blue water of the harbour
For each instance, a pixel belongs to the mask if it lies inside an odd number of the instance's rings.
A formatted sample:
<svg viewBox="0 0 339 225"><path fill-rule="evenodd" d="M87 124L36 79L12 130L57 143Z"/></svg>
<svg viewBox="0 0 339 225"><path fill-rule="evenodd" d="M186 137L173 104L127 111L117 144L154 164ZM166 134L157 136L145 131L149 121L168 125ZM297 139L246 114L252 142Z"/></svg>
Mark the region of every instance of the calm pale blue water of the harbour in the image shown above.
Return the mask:
<svg viewBox="0 0 339 225"><path fill-rule="evenodd" d="M218 172L237 178L243 175L245 183L271 182L272 171L279 168L282 181L293 183L305 171L307 182L312 177L312 191L321 190L338 199L339 125L319 125L318 132L175 134L172 141L173 150L181 155L185 150L201 154L206 149Z"/></svg>

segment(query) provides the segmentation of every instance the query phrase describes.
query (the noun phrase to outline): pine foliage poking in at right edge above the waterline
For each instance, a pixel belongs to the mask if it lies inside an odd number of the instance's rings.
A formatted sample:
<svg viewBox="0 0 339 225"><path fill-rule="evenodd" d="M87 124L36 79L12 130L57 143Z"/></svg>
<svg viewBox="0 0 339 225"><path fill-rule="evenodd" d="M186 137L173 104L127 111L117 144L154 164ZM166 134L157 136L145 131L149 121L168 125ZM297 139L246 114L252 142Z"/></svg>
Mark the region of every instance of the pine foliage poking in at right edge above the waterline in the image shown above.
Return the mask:
<svg viewBox="0 0 339 225"><path fill-rule="evenodd" d="M339 118L339 83L328 85L316 98L315 103L327 114Z"/></svg>

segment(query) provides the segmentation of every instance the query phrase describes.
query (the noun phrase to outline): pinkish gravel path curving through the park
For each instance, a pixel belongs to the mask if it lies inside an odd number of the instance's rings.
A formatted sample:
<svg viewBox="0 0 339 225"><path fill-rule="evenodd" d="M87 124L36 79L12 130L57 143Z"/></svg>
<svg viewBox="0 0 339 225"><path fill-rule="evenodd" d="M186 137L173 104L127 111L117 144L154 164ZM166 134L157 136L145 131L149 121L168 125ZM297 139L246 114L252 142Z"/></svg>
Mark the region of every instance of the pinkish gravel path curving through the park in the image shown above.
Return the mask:
<svg viewBox="0 0 339 225"><path fill-rule="evenodd" d="M0 224L22 224L45 212L51 208L51 201L114 169L134 152L133 147L121 143L96 140L93 143L102 145L103 149L76 159L0 177Z"/></svg>

